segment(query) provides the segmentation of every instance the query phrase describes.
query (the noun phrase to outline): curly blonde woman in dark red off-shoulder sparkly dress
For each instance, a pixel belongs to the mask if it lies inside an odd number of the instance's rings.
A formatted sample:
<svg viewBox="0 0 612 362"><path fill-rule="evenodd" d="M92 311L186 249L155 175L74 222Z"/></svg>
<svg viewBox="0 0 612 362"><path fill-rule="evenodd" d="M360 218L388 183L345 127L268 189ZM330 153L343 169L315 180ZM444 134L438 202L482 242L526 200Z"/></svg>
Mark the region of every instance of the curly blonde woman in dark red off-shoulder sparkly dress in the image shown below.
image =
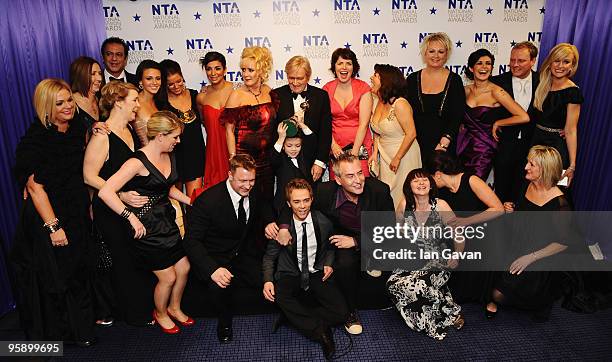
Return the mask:
<svg viewBox="0 0 612 362"><path fill-rule="evenodd" d="M240 70L244 84L232 91L220 120L225 125L229 157L246 153L255 159L255 187L264 200L271 202L274 197L274 170L267 156L275 141L272 139L272 121L276 117L279 100L264 83L272 70L272 53L263 47L244 48Z"/></svg>

